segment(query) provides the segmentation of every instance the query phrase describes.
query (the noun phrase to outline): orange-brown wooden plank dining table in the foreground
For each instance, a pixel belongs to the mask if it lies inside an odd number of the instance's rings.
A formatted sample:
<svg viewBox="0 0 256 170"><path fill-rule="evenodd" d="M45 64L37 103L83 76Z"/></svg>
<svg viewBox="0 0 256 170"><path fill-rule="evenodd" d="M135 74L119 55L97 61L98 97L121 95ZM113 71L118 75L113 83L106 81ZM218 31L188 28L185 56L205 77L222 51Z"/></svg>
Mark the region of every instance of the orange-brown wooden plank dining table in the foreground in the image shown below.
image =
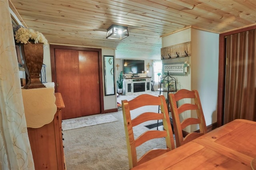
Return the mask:
<svg viewBox="0 0 256 170"><path fill-rule="evenodd" d="M252 170L256 122L236 119L132 170Z"/></svg>

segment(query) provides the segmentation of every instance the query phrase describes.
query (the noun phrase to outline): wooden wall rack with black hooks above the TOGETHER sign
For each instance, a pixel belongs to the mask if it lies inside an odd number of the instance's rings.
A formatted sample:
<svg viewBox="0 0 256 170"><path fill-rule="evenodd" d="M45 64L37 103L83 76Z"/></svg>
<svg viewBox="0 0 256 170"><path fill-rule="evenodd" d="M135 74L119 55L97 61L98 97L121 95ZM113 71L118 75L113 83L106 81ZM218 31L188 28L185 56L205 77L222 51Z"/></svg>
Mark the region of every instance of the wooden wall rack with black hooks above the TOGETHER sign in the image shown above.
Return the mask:
<svg viewBox="0 0 256 170"><path fill-rule="evenodd" d="M164 47L161 49L161 59L174 59L178 57L188 57L191 55L191 41Z"/></svg>

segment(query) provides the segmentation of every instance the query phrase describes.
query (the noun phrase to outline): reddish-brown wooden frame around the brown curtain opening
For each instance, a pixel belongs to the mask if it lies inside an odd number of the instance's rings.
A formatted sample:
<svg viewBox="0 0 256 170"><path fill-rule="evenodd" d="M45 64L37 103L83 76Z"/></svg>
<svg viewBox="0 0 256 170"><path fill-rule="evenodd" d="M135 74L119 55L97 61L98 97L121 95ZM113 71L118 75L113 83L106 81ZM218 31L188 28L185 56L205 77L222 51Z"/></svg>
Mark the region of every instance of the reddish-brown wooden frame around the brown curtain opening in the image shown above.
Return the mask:
<svg viewBox="0 0 256 170"><path fill-rule="evenodd" d="M226 42L228 35L241 33L256 29L256 25L221 33L219 36L219 75L218 75L218 104L217 104L217 127L224 124L224 99L225 99L225 80L226 80Z"/></svg>

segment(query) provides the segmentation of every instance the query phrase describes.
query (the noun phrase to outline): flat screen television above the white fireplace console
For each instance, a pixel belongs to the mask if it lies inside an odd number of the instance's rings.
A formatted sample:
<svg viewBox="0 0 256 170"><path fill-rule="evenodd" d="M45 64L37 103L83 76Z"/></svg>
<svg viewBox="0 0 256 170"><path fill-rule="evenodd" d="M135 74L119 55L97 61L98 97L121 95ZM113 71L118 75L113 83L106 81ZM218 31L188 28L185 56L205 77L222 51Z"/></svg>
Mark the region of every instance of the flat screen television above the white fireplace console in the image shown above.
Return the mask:
<svg viewBox="0 0 256 170"><path fill-rule="evenodd" d="M143 73L145 70L144 60L124 60L124 74Z"/></svg>

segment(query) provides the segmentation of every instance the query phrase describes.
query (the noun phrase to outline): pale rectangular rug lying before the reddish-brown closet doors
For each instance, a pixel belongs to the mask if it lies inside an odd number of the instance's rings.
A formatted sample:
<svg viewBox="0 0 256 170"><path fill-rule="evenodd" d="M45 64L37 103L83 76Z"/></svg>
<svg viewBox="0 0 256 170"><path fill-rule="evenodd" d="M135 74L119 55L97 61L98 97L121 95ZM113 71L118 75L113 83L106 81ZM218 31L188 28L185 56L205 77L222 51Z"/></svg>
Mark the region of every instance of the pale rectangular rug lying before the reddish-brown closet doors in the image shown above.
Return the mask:
<svg viewBox="0 0 256 170"><path fill-rule="evenodd" d="M103 123L110 123L118 121L113 115L111 114L104 114L104 115L94 115L94 116L85 116L85 117L78 117L74 119L66 119L62 121L62 130L70 130L70 129L77 129L81 127L88 127L93 125L99 125Z"/></svg>

